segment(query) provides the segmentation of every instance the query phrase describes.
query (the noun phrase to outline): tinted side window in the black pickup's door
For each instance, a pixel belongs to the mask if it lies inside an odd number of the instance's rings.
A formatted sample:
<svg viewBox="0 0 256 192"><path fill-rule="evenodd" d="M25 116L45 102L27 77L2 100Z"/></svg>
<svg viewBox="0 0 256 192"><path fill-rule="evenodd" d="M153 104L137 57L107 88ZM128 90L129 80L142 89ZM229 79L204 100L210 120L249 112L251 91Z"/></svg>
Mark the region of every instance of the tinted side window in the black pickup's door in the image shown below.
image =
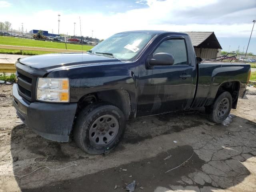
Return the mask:
<svg viewBox="0 0 256 192"><path fill-rule="evenodd" d="M174 56L174 65L187 65L187 50L183 39L169 39L165 40L158 46L153 53L170 53Z"/></svg>

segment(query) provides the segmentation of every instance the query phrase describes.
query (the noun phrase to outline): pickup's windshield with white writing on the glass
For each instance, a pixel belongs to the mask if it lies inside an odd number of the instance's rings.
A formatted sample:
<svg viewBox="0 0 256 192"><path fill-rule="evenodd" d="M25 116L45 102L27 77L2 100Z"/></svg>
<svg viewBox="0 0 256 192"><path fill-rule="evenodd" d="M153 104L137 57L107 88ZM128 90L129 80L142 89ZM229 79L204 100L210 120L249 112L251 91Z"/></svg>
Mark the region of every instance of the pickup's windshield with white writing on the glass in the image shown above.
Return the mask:
<svg viewBox="0 0 256 192"><path fill-rule="evenodd" d="M151 39L152 34L148 33L118 33L107 38L89 52L112 56L119 60L133 61Z"/></svg>

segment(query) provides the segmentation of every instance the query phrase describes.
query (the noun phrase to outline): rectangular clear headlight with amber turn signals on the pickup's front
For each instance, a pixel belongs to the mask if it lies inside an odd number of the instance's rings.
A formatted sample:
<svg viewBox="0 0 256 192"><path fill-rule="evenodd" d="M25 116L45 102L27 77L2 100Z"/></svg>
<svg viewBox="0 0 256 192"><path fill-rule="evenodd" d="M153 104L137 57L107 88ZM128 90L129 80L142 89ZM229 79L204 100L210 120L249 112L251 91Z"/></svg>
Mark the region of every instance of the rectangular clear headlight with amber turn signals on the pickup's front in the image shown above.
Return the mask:
<svg viewBox="0 0 256 192"><path fill-rule="evenodd" d="M68 78L38 78L36 100L46 102L69 102Z"/></svg>

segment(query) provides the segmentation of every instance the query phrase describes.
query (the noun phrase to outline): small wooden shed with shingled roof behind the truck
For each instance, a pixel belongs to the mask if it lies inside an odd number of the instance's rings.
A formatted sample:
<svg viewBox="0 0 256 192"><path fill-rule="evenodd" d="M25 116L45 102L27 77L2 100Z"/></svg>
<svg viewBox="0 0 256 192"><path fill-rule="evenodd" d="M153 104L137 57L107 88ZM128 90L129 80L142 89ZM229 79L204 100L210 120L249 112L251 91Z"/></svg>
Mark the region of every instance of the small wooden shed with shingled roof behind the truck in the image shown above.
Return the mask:
<svg viewBox="0 0 256 192"><path fill-rule="evenodd" d="M192 40L196 56L210 59L220 56L222 47L214 32L185 32Z"/></svg>

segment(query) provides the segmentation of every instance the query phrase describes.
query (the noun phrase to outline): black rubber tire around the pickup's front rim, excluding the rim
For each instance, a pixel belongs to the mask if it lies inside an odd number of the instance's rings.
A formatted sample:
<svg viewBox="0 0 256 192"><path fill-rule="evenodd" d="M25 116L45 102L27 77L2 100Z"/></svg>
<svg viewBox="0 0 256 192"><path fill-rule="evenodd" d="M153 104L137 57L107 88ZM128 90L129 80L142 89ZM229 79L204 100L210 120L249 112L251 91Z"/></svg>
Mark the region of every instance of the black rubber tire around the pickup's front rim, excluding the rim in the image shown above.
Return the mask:
<svg viewBox="0 0 256 192"><path fill-rule="evenodd" d="M92 137L89 136L89 131L90 128L94 126L92 124L98 118L104 115L111 115L116 118L119 124L118 132L116 133L114 139L107 145L96 146L96 144L94 144L94 140L92 140ZM124 114L118 107L107 102L90 104L80 112L76 119L76 123L74 126L74 140L78 147L80 147L88 154L104 154L111 151L118 145L124 134L125 127L126 121Z"/></svg>

